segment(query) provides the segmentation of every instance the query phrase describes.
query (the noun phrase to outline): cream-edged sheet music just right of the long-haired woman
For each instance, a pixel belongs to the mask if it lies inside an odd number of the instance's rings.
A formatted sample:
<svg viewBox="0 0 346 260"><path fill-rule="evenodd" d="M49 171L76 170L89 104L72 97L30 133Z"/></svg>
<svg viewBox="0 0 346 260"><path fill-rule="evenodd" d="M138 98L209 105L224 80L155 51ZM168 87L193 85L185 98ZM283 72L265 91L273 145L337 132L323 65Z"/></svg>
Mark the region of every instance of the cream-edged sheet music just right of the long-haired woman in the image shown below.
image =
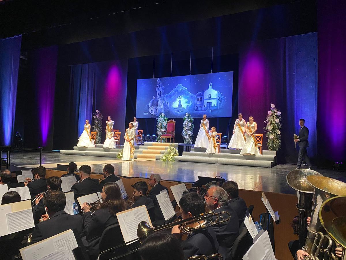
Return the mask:
<svg viewBox="0 0 346 260"><path fill-rule="evenodd" d="M137 227L139 222L146 221L152 226L148 210L144 205L121 211L117 213L117 218L125 243L137 238Z"/></svg>

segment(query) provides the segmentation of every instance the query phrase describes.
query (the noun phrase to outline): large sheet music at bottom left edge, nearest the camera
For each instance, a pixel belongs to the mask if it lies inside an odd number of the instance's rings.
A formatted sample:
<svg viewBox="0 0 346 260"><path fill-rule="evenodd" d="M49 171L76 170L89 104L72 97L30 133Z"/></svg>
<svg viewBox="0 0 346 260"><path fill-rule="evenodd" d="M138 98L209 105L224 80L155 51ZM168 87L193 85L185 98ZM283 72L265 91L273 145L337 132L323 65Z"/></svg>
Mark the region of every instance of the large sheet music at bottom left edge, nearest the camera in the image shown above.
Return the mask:
<svg viewBox="0 0 346 260"><path fill-rule="evenodd" d="M74 260L72 250L76 247L78 247L77 241L72 230L69 229L68 231L20 249L20 254L23 260ZM64 256L60 253L62 256L58 258L59 253L57 251L64 252Z"/></svg>

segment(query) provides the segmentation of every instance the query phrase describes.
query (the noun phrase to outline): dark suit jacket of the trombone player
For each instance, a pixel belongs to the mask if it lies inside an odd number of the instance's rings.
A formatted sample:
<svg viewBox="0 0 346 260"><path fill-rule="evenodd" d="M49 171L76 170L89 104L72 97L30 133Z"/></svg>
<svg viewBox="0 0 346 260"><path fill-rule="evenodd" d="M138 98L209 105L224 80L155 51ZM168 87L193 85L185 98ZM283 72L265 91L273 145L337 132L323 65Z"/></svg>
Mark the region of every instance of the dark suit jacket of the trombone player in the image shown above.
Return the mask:
<svg viewBox="0 0 346 260"><path fill-rule="evenodd" d="M219 243L211 227L192 232L181 245L185 259L197 254L208 256L219 250Z"/></svg>

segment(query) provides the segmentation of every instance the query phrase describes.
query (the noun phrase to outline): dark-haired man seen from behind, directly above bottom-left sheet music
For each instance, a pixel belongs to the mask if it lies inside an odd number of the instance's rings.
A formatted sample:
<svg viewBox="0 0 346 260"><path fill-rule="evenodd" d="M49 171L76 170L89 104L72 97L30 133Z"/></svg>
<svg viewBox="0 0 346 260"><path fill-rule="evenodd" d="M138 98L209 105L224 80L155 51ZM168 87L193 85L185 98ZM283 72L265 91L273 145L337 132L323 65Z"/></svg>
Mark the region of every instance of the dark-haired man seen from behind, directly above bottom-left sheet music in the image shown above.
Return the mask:
<svg viewBox="0 0 346 260"><path fill-rule="evenodd" d="M82 234L82 216L70 215L64 211L66 206L64 193L51 191L43 200L47 213L51 218L35 226L31 243L39 242L69 229L74 229L79 235Z"/></svg>

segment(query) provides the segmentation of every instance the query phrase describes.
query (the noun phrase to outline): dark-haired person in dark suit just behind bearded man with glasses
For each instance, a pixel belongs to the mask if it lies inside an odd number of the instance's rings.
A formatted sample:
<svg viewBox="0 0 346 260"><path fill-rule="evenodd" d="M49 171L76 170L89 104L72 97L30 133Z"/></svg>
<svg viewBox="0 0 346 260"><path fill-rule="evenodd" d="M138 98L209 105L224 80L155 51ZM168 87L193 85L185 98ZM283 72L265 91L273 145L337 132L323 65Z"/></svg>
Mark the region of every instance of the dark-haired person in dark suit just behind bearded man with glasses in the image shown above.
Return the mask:
<svg viewBox="0 0 346 260"><path fill-rule="evenodd" d="M228 192L228 205L237 213L240 226L244 222L247 206L245 200L239 197L238 184L234 181L226 181L221 187Z"/></svg>

